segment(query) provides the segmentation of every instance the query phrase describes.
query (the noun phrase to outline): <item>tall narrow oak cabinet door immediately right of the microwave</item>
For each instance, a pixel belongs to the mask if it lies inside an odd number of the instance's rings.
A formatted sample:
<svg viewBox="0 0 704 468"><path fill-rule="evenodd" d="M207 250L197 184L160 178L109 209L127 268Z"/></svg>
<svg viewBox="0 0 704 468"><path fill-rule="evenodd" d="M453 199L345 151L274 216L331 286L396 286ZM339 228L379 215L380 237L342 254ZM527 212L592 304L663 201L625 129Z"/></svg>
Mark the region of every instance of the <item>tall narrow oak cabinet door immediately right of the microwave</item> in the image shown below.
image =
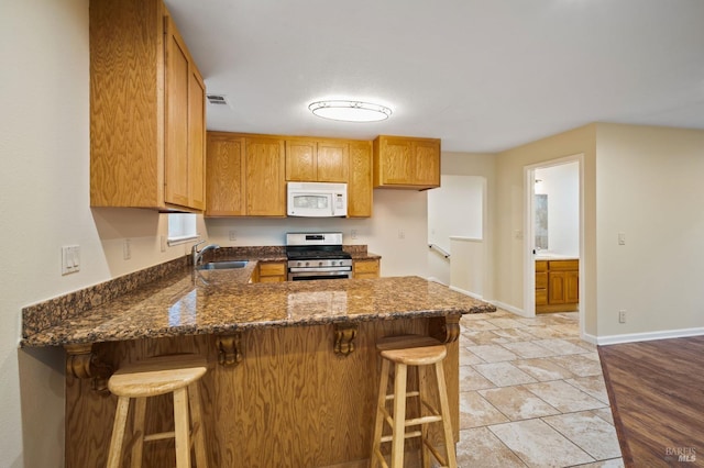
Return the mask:
<svg viewBox="0 0 704 468"><path fill-rule="evenodd" d="M372 215L372 144L350 142L350 175L348 182L348 216Z"/></svg>

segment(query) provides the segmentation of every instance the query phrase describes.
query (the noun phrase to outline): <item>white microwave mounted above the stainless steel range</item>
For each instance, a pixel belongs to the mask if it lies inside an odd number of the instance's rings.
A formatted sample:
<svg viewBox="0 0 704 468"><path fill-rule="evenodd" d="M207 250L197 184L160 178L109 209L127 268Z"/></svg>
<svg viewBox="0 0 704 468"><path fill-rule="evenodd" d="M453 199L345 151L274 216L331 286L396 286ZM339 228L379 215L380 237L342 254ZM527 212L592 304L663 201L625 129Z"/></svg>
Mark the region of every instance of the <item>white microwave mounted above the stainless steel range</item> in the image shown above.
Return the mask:
<svg viewBox="0 0 704 468"><path fill-rule="evenodd" d="M288 182L289 216L332 218L348 215L348 185Z"/></svg>

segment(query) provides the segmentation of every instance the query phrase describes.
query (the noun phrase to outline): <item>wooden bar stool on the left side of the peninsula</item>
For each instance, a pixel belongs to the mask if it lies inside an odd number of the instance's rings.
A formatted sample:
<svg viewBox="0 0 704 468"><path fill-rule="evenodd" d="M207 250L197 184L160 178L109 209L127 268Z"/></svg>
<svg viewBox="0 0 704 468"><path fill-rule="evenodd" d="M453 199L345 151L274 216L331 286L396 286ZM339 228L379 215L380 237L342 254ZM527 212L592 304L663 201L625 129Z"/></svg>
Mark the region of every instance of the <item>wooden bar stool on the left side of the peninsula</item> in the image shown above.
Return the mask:
<svg viewBox="0 0 704 468"><path fill-rule="evenodd" d="M190 468L190 446L195 445L198 468L208 466L200 391L198 381L206 374L207 364L195 355L173 355L150 358L118 370L108 388L118 395L118 409L112 426L108 468L119 468L122 460L124 428L130 409L130 400L135 399L134 427L132 439L132 467L142 466L142 450L145 442L164 438L176 439L176 467ZM174 431L144 434L146 398L174 393ZM188 406L190 405L189 424Z"/></svg>

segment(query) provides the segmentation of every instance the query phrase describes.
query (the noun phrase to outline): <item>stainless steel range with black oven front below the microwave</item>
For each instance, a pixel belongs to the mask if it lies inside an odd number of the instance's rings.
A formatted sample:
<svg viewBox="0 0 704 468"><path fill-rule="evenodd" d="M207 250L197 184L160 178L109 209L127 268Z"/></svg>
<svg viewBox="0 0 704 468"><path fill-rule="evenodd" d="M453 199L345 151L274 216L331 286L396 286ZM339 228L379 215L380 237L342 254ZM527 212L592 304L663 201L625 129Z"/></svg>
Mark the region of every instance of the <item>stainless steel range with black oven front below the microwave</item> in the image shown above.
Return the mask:
<svg viewBox="0 0 704 468"><path fill-rule="evenodd" d="M342 233L287 233L288 280L352 277L352 256L342 249Z"/></svg>

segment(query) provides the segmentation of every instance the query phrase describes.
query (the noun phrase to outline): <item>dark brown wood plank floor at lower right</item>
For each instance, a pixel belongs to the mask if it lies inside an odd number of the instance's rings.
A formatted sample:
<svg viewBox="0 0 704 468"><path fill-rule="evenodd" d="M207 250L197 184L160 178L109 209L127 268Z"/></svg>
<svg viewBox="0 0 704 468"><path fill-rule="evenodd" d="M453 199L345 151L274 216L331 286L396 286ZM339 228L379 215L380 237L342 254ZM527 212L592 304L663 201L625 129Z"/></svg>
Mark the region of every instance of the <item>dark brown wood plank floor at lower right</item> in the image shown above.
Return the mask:
<svg viewBox="0 0 704 468"><path fill-rule="evenodd" d="M704 466L704 336L598 354L626 467Z"/></svg>

